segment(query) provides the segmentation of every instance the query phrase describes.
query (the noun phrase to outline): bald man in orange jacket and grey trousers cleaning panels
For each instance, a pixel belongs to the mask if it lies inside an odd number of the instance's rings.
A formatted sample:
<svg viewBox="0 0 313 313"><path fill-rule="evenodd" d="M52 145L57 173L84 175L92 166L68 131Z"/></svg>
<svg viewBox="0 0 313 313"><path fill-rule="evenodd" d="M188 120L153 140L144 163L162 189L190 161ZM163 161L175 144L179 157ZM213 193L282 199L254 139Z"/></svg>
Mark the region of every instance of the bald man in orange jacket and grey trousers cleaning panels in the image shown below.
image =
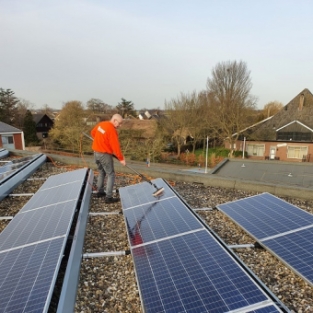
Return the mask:
<svg viewBox="0 0 313 313"><path fill-rule="evenodd" d="M95 162L99 171L97 196L105 197L106 203L119 201L118 198L113 198L113 185L115 181L113 155L122 165L126 165L117 134L117 128L122 123L122 116L114 114L110 121L100 122L91 130L91 136L93 138L92 150L94 151ZM106 192L104 192L104 179L106 175L108 175L108 181Z"/></svg>

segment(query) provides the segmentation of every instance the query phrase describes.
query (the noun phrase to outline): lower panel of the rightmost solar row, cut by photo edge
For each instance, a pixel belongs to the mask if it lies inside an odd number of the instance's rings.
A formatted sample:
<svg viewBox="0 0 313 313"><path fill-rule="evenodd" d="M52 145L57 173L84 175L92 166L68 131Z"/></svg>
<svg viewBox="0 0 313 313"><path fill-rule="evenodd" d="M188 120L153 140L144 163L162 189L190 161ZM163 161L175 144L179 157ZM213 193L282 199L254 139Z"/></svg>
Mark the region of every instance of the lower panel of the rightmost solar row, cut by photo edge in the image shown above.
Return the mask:
<svg viewBox="0 0 313 313"><path fill-rule="evenodd" d="M313 227L262 241L277 257L313 284Z"/></svg>

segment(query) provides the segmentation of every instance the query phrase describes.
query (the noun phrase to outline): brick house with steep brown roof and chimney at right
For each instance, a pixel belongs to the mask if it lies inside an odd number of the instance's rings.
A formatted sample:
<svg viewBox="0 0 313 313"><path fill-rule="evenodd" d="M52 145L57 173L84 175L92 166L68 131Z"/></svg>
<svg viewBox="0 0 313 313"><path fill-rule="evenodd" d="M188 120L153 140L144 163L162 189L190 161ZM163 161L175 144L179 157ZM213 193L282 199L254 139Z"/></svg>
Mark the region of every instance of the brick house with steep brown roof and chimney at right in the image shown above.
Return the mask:
<svg viewBox="0 0 313 313"><path fill-rule="evenodd" d="M304 89L278 113L242 131L239 139L235 148L244 148L252 159L313 162L312 93Z"/></svg>

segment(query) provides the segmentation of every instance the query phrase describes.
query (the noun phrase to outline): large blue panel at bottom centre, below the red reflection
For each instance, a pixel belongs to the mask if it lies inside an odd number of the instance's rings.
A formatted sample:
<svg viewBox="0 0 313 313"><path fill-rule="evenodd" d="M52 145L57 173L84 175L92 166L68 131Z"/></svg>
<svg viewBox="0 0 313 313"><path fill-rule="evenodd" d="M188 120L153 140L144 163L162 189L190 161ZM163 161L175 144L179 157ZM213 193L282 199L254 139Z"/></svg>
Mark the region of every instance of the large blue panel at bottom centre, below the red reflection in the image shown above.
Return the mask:
<svg viewBox="0 0 313 313"><path fill-rule="evenodd" d="M133 248L145 312L228 312L268 300L206 231Z"/></svg>

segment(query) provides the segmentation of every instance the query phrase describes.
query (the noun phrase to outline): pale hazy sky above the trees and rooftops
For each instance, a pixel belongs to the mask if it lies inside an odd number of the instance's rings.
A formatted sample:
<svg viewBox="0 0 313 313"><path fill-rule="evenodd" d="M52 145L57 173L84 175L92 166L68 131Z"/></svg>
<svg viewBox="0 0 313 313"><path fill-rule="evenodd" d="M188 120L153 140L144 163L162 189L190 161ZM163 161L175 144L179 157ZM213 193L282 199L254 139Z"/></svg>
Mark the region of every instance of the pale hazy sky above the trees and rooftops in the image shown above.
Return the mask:
<svg viewBox="0 0 313 313"><path fill-rule="evenodd" d="M164 109L243 61L257 108L313 92L310 0L0 0L0 88L35 108Z"/></svg>

